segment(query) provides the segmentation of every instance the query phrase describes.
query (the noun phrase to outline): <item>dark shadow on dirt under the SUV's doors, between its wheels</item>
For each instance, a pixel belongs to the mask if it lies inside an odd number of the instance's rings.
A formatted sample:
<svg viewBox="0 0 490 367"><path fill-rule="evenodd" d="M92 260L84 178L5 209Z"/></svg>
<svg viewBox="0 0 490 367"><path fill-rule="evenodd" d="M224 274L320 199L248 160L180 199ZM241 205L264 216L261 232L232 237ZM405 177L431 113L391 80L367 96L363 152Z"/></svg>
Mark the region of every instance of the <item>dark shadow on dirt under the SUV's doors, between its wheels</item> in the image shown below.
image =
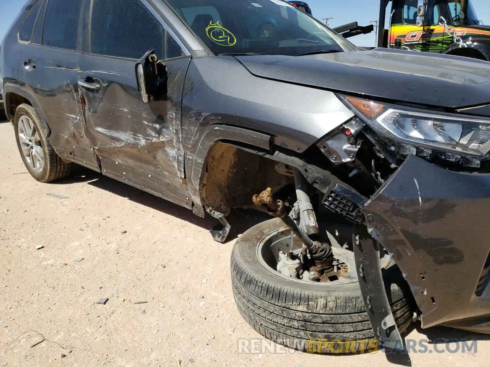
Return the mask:
<svg viewBox="0 0 490 367"><path fill-rule="evenodd" d="M74 166L73 169L72 175L70 175L69 178L54 182L53 184L62 185L85 182L91 186L109 191L123 198L127 198L134 203L172 215L173 217L199 226L208 231L213 229L218 224L218 221L212 218L210 215L207 215L206 218L198 217L192 212L192 210L173 204L165 199L158 198L128 184L124 184L117 180L103 176L91 169L81 166ZM269 215L256 210L232 210L230 215L228 215L226 218L231 225L231 229L225 243L233 241L239 234L244 233L250 227L268 219L270 219ZM209 238L212 238L211 234L209 234Z"/></svg>

